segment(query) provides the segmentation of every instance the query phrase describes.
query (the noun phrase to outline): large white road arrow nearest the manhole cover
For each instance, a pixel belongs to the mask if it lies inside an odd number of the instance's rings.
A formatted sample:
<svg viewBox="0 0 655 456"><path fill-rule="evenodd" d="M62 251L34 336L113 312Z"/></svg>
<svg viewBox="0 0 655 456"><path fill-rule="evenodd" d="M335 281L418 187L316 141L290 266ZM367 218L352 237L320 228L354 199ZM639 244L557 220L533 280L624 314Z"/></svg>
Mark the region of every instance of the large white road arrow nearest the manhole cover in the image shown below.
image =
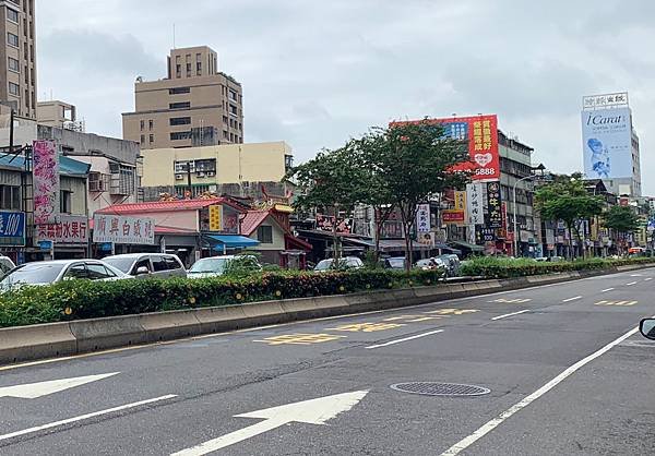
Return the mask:
<svg viewBox="0 0 655 456"><path fill-rule="evenodd" d="M364 397L368 391L337 394L334 396L319 397L317 399L303 400L301 403L287 404L285 406L252 411L250 413L237 415L236 418L260 418L261 421L248 428L240 429L218 439L201 443L192 448L182 449L171 456L201 456L215 452L235 443L271 431L281 425L299 422L308 424L325 424L326 421L337 415L350 410Z"/></svg>

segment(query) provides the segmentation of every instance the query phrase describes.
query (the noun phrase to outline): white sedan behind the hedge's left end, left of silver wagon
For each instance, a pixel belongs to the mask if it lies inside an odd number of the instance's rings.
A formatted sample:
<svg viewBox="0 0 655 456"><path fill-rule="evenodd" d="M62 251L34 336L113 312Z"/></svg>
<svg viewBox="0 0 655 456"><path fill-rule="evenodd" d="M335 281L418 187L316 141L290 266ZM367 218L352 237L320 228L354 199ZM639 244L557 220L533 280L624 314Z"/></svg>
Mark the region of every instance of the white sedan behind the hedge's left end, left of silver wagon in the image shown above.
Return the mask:
<svg viewBox="0 0 655 456"><path fill-rule="evenodd" d="M120 280L129 278L120 269L99 260L53 260L25 263L11 269L0 280L0 289L23 285L49 285L62 280Z"/></svg>

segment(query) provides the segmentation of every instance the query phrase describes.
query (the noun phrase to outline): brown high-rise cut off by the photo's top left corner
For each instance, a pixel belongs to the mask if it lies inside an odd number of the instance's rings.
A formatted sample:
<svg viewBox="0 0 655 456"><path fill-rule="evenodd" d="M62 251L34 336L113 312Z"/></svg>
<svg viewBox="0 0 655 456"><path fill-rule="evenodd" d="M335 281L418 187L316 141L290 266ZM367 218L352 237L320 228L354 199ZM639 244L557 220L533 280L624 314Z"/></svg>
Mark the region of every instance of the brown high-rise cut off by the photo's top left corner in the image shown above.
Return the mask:
<svg viewBox="0 0 655 456"><path fill-rule="evenodd" d="M0 103L36 118L34 0L0 0Z"/></svg>

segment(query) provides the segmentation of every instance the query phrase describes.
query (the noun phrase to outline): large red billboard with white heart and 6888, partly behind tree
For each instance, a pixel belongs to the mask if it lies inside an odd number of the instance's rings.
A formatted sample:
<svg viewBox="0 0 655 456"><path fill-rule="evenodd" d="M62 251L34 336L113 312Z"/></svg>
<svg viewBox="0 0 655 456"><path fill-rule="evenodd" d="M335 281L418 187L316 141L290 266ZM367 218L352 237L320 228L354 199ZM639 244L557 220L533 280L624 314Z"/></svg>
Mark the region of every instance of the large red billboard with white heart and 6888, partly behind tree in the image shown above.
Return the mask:
<svg viewBox="0 0 655 456"><path fill-rule="evenodd" d="M496 115L392 122L391 127L421 122L441 124L445 129L446 136L468 142L471 161L461 164L453 170L471 170L473 180L477 181L500 179L498 117Z"/></svg>

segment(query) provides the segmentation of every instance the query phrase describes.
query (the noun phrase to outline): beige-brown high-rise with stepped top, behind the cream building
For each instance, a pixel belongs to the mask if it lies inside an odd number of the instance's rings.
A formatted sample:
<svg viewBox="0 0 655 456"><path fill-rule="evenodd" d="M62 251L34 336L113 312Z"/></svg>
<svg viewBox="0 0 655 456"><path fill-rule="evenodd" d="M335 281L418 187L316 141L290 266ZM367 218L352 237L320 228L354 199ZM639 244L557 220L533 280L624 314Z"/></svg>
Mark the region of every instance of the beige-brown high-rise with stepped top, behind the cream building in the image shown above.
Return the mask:
<svg viewBox="0 0 655 456"><path fill-rule="evenodd" d="M172 49L168 76L134 84L134 112L124 112L123 139L142 149L243 142L241 84L218 71L206 46Z"/></svg>

